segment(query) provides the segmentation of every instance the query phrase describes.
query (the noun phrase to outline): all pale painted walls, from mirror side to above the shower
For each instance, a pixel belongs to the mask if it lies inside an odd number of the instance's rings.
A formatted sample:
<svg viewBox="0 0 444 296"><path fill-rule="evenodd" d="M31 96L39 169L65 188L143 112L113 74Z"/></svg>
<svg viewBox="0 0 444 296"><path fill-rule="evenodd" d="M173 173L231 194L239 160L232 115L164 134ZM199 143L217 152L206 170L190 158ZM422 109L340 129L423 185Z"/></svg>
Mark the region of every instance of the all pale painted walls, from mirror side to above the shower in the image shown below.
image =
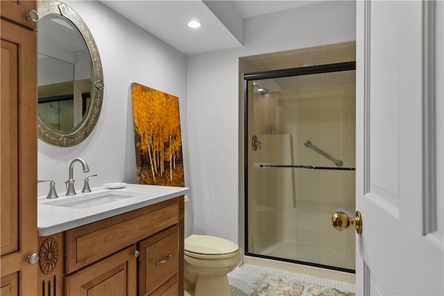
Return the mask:
<svg viewBox="0 0 444 296"><path fill-rule="evenodd" d="M38 177L65 192L68 166L85 159L91 186L136 182L130 83L178 96L185 184L189 194L187 233L238 242L239 57L355 40L355 1L250 17L244 46L186 56L98 1L67 1L89 26L101 54L105 93L98 125L86 141L57 148L39 139ZM84 173L74 169L76 189ZM48 184L39 185L39 195Z"/></svg>

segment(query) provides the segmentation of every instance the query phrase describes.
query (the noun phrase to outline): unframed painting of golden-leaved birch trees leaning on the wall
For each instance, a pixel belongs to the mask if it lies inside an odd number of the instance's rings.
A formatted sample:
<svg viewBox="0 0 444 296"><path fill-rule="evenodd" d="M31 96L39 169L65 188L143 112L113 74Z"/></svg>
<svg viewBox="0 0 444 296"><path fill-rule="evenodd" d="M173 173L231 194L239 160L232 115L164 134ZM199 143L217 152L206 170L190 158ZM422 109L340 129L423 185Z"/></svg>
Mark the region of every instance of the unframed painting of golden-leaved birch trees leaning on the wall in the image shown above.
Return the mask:
<svg viewBox="0 0 444 296"><path fill-rule="evenodd" d="M139 184L185 186L179 98L131 84Z"/></svg>

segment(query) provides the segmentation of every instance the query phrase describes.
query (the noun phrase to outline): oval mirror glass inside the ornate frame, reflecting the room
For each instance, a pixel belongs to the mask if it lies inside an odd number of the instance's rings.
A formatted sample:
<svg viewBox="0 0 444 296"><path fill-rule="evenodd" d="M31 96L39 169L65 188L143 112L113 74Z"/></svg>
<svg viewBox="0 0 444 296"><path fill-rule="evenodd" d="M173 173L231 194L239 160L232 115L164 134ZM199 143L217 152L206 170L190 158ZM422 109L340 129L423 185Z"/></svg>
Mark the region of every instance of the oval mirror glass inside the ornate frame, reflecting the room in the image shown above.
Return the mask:
<svg viewBox="0 0 444 296"><path fill-rule="evenodd" d="M48 128L69 134L82 123L90 103L92 61L87 44L69 19L39 20L38 112Z"/></svg>

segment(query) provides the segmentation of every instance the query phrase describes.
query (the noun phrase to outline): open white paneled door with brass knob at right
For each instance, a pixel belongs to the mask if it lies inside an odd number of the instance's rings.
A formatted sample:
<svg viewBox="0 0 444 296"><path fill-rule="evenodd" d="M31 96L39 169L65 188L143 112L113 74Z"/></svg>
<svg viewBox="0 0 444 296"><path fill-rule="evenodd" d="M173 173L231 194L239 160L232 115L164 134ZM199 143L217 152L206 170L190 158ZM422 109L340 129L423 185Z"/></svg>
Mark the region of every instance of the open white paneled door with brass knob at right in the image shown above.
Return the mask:
<svg viewBox="0 0 444 296"><path fill-rule="evenodd" d="M357 1L357 295L444 295L443 52L443 1Z"/></svg>

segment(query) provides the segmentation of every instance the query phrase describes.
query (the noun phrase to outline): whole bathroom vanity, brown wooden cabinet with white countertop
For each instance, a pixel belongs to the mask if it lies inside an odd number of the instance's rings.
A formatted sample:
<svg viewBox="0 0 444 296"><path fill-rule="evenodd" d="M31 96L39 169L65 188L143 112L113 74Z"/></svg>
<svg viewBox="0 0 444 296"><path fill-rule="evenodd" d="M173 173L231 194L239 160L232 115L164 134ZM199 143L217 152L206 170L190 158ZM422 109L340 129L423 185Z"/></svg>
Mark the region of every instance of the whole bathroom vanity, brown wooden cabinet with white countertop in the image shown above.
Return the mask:
<svg viewBox="0 0 444 296"><path fill-rule="evenodd" d="M183 295L187 192L130 184L40 198L39 295Z"/></svg>

